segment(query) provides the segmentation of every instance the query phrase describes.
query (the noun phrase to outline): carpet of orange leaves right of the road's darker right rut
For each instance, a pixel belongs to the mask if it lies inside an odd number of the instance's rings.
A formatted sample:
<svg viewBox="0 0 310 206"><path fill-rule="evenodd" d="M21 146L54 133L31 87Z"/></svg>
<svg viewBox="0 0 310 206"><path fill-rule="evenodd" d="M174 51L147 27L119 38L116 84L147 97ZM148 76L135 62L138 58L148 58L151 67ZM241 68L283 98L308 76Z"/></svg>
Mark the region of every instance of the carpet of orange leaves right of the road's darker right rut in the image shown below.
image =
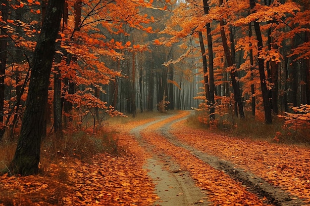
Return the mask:
<svg viewBox="0 0 310 206"><path fill-rule="evenodd" d="M169 132L181 142L251 171L310 205L309 148L228 137L209 129L193 129L186 121L173 124Z"/></svg>

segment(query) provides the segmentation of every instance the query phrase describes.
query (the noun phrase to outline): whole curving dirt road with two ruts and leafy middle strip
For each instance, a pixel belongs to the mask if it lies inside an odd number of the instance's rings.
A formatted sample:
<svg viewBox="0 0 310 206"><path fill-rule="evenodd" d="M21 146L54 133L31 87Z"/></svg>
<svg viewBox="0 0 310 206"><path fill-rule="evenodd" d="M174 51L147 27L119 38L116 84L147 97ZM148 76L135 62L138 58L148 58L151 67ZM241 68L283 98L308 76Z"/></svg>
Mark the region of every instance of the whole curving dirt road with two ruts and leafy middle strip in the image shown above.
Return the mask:
<svg viewBox="0 0 310 206"><path fill-rule="evenodd" d="M160 198L154 206L307 205L285 188L275 187L250 170L201 151L171 134L171 126L188 115L190 112L167 115L131 130L151 154L145 168L154 179ZM182 133L180 125L174 130Z"/></svg>

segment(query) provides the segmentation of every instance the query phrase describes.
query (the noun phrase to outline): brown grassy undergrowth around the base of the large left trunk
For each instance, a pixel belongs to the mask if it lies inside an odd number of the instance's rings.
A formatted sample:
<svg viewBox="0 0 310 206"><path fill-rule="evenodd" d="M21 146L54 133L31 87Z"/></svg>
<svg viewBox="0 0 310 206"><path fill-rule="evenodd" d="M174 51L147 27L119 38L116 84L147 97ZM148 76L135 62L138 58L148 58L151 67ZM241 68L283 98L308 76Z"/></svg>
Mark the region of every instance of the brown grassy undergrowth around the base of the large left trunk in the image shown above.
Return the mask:
<svg viewBox="0 0 310 206"><path fill-rule="evenodd" d="M76 132L59 139L50 135L43 139L39 174L26 177L11 176L0 181L0 206L61 205L68 195L69 166L79 159L91 164L96 154L121 155L113 131L100 134ZM0 168L6 167L14 156L16 143L1 141ZM2 177L5 178L5 177ZM3 180L5 183L3 183Z"/></svg>

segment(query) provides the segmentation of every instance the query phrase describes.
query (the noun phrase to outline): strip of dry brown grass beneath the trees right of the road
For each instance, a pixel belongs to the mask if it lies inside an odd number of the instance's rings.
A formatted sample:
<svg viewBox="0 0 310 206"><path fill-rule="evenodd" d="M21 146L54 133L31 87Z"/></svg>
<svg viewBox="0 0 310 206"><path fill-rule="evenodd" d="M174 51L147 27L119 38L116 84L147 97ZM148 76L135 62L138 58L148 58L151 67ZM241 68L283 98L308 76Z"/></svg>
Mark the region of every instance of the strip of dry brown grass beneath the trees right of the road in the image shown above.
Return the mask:
<svg viewBox="0 0 310 206"><path fill-rule="evenodd" d="M283 116L273 116L272 124L265 124L250 113L246 113L245 117L245 119L241 119L231 114L221 116L215 114L215 121L210 121L206 111L196 111L195 115L188 119L188 124L196 128L225 132L239 138L310 146L309 127L289 127Z"/></svg>

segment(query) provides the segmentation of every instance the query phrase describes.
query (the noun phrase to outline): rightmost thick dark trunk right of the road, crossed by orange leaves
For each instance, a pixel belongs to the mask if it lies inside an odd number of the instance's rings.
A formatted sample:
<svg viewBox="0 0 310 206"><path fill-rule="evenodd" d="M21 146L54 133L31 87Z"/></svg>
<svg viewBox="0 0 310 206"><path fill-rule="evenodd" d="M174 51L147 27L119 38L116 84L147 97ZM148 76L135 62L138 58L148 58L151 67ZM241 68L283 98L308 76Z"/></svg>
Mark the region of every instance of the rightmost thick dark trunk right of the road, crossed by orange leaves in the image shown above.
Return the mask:
<svg viewBox="0 0 310 206"><path fill-rule="evenodd" d="M255 4L256 4L255 0L250 0L251 9L254 9ZM253 12L256 12L256 11L253 11ZM259 22L257 21L254 22L254 28L256 32L257 41L258 41L258 53L259 53L262 49L262 37L261 37ZM258 58L258 70L259 70L261 95L262 95L264 111L265 111L265 123L272 124L271 108L269 104L268 89L267 89L265 69L264 69L264 59L262 58Z"/></svg>

